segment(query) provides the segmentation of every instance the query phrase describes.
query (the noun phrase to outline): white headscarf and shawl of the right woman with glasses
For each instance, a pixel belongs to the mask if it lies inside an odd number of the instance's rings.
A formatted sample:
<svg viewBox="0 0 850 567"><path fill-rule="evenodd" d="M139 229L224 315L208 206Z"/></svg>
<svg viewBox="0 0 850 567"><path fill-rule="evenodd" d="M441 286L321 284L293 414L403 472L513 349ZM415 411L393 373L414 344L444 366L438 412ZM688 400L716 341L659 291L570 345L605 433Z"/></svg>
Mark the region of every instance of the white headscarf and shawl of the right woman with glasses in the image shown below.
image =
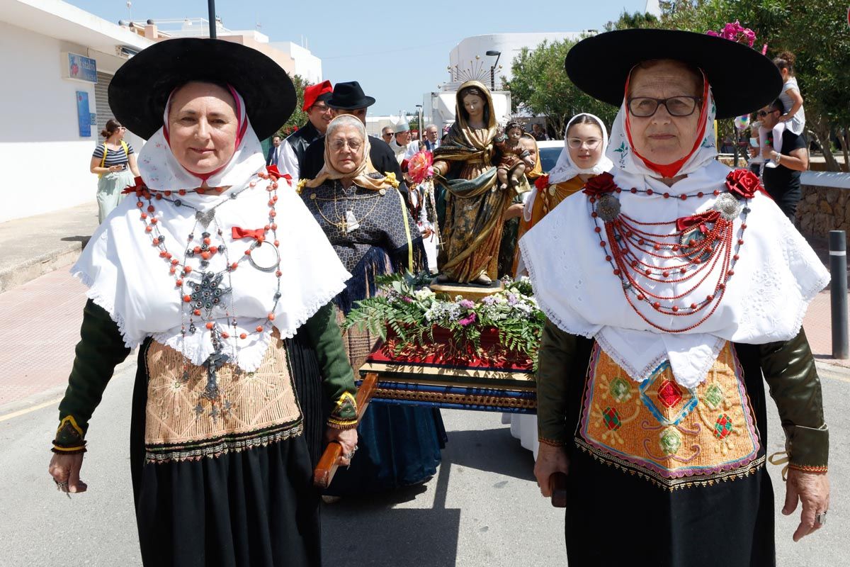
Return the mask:
<svg viewBox="0 0 850 567"><path fill-rule="evenodd" d="M615 163L611 172L615 184L624 189L617 195L621 210L631 218L653 223L702 213L713 206L717 198L713 191L725 190L730 169L714 159L717 148L711 122L715 106L710 91L707 103L701 124L705 133L678 167L678 174L686 177L668 187L661 183L662 175L634 153L626 133L624 101L611 131L608 156ZM627 190L632 187L654 193ZM700 191L705 195L694 196ZM683 201L665 198L665 193L692 197ZM795 337L808 303L830 281L824 265L774 201L757 192L747 206L751 213L746 218L740 262L735 264L723 302L707 320L689 329L694 320L665 318L638 303L643 315L678 332L662 332L649 325L626 303L621 280L612 275L594 232L589 199L566 199L520 239L519 247L536 299L558 328L595 339L638 382L669 360L676 381L694 388L706 379L726 341L762 344ZM741 224L741 218L735 219L735 235L741 234ZM658 267L667 265L664 258L647 256L642 260ZM719 264L712 268L704 283L681 302L699 303L713 293L716 269L723 268ZM693 285L684 282L650 289L665 293L669 289L672 297Z"/></svg>

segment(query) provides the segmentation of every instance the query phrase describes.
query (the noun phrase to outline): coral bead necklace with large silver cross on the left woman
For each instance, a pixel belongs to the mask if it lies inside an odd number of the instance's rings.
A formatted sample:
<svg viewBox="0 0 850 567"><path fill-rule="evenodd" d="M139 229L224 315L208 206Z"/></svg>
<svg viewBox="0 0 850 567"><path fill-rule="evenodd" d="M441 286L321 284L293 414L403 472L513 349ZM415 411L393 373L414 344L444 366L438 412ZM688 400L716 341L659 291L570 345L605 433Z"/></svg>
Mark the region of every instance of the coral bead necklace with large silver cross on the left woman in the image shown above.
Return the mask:
<svg viewBox="0 0 850 567"><path fill-rule="evenodd" d="M268 179L269 184L266 190L269 191L269 221L263 228L257 230L244 230L240 227L232 227L232 238L238 240L240 238L250 237L252 243L241 254L240 258L232 261L233 258L229 255L229 246L224 243L224 230L218 219L215 218L215 208L224 204L222 201L216 207L212 207L207 211L201 212L190 204L185 203L180 197L185 196L186 190L170 191L170 190L150 190L142 181L141 178L136 178L136 185L129 188L126 192L134 193L136 196L136 207L139 207L140 219L144 224L144 232L150 235L150 243L155 247L162 258L163 263L167 266L168 274L173 277L174 288L179 294L179 302L181 305L182 323L180 333L183 337L187 334L194 334L197 331L197 325L204 325L211 332L211 341L213 352L203 363L207 368L207 387L205 388L203 397L212 402L210 415L215 418L221 415L222 411L227 409L227 404L220 399L217 381L218 368L230 360L230 355L224 352L224 341L231 337L231 333L237 335L237 315L233 306L231 297L232 285L230 285L230 275L238 269L241 264L250 263L256 269L266 272L274 272L277 277L277 286L274 294L274 302L272 308L269 309L268 315L262 324L259 324L255 331L262 333L265 328L272 324L275 320L275 309L280 301L280 254L277 252L277 247L280 242L277 240L277 223L275 217L275 203L278 200L277 188L280 173L277 173L276 168L269 169L269 173L258 173L259 179ZM257 179L252 179L248 183L247 188L255 187L258 183ZM213 189L197 189L196 193L203 195L205 192L221 192L222 188ZM231 193L230 198L235 199L241 194ZM174 252L169 251L166 244L166 236L159 229L159 219L156 218L156 201L169 201L175 207L189 207L195 210L195 225L186 237L186 249L182 259L177 258ZM212 226L211 226L212 225ZM196 238L196 233L202 228L200 233L201 238ZM267 237L271 233L272 242L267 241ZM217 241L217 242L214 242ZM274 252L276 261L267 265L260 265L252 258L252 253L256 255L259 247L263 244L274 244ZM225 268L218 272L208 269L210 259L216 255L224 256ZM190 258L196 258L199 262L199 267L193 269L190 266ZM229 301L225 301L229 298ZM217 314L216 309L224 309L224 319L227 320L227 325L222 326L218 319L220 311ZM228 327L232 326L232 329ZM238 332L238 337L245 340L248 337L247 332ZM183 379L189 379L189 361L186 360L183 372ZM237 367L238 373L238 367ZM219 409L218 405L222 405ZM195 411L200 415L204 410L201 403L195 407Z"/></svg>

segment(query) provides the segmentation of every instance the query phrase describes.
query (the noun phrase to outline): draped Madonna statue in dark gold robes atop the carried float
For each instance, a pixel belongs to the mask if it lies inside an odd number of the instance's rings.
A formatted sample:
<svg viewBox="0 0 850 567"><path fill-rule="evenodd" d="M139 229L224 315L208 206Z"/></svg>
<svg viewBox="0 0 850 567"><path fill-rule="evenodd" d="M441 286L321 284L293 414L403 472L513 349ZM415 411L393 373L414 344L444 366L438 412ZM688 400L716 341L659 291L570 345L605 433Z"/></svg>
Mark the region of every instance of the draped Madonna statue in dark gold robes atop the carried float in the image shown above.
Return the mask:
<svg viewBox="0 0 850 567"><path fill-rule="evenodd" d="M496 163L496 116L490 91L467 81L456 95L456 122L434 150L434 180L443 190L439 282L490 285L498 279L502 215L513 197L528 189L500 189Z"/></svg>

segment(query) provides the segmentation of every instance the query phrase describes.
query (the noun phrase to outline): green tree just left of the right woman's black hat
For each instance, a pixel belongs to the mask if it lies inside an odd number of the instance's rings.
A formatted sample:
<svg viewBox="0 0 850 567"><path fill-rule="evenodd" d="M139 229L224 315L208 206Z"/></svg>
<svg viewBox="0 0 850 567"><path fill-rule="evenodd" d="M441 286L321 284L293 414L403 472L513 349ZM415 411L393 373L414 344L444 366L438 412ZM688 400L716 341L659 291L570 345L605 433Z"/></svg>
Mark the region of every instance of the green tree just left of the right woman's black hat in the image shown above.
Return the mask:
<svg viewBox="0 0 850 567"><path fill-rule="evenodd" d="M513 78L502 77L511 92L513 113L527 111L545 116L548 127L559 135L572 116L590 112L610 125L617 109L584 94L570 81L564 71L564 58L575 42L544 41L534 49L523 48L511 64Z"/></svg>

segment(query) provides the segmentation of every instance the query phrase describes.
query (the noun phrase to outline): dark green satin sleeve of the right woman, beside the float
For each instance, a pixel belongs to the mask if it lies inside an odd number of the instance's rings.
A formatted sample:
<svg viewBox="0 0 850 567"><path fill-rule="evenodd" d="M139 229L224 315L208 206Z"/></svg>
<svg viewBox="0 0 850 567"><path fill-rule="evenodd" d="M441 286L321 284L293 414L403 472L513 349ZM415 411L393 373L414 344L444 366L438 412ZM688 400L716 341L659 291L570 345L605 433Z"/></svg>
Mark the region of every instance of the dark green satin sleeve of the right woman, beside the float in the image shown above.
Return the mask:
<svg viewBox="0 0 850 567"><path fill-rule="evenodd" d="M537 365L537 432L541 443L563 446L567 430L570 368L578 338L546 320Z"/></svg>

